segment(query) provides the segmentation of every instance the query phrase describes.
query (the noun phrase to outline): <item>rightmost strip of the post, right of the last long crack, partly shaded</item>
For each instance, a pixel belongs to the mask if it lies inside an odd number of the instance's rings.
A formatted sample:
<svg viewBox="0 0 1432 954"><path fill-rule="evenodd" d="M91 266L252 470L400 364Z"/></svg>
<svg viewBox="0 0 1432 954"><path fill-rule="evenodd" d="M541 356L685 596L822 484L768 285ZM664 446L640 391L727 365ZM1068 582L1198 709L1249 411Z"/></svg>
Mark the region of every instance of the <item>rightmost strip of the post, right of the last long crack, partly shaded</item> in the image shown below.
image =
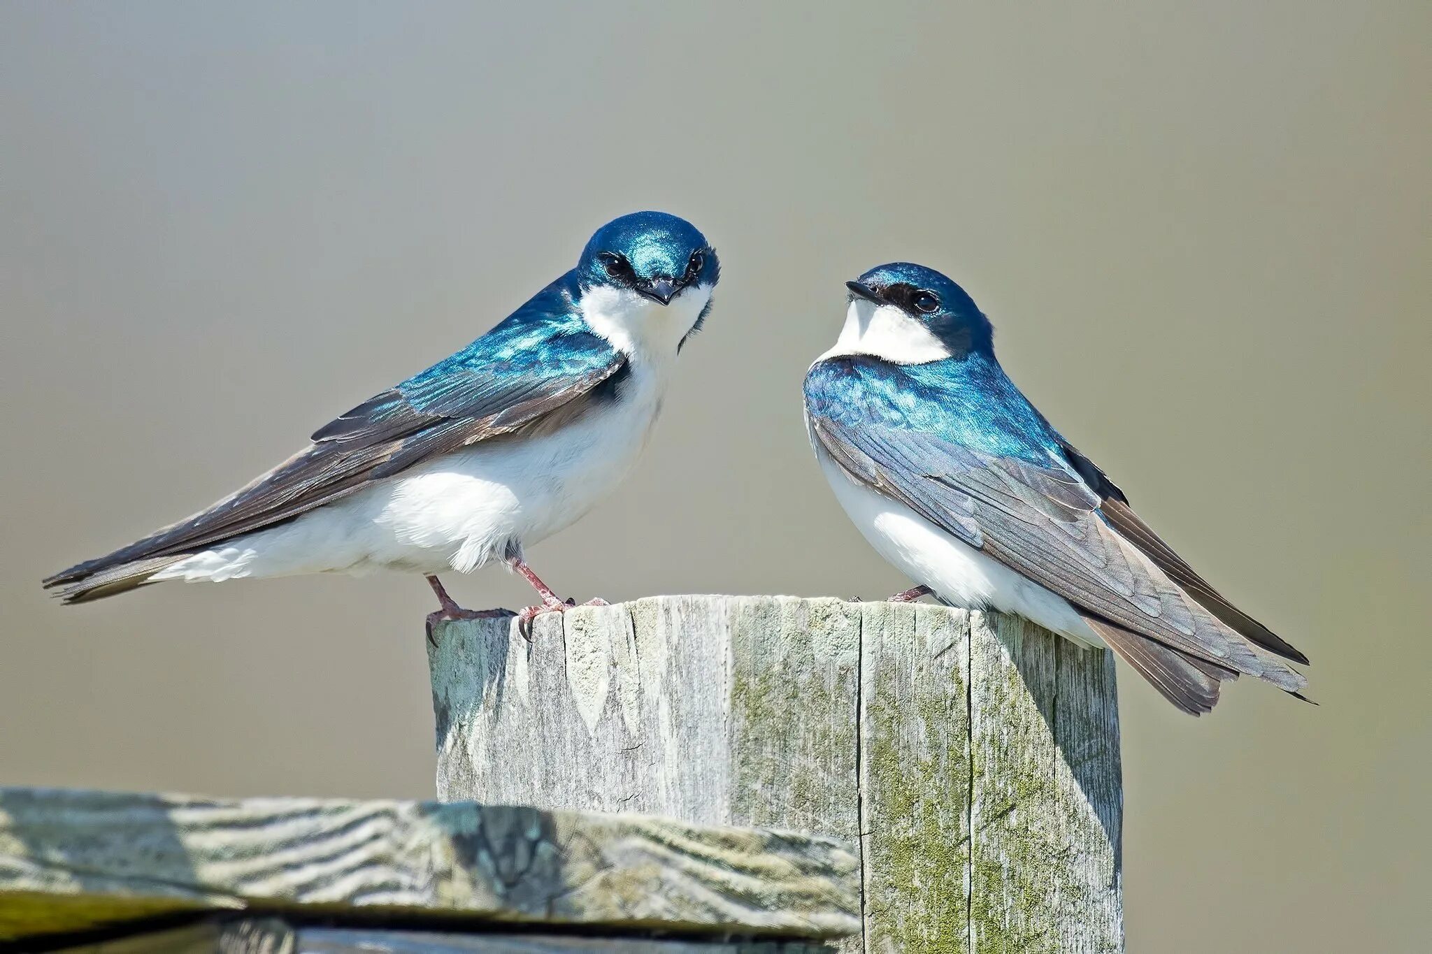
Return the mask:
<svg viewBox="0 0 1432 954"><path fill-rule="evenodd" d="M1017 616L971 619L971 951L1123 950L1117 850L1100 821L1117 844L1113 669L1063 642Z"/></svg>

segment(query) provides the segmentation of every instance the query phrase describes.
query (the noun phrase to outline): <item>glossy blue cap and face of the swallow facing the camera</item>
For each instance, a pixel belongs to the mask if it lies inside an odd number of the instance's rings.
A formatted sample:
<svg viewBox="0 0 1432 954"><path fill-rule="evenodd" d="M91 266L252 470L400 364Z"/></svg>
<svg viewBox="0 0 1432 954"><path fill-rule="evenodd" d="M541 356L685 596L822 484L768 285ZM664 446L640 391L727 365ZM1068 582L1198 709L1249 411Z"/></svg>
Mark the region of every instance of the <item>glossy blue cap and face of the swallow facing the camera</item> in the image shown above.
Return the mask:
<svg viewBox="0 0 1432 954"><path fill-rule="evenodd" d="M686 219L664 212L633 212L606 223L577 262L581 286L630 289L667 305L687 287L716 285L720 262Z"/></svg>

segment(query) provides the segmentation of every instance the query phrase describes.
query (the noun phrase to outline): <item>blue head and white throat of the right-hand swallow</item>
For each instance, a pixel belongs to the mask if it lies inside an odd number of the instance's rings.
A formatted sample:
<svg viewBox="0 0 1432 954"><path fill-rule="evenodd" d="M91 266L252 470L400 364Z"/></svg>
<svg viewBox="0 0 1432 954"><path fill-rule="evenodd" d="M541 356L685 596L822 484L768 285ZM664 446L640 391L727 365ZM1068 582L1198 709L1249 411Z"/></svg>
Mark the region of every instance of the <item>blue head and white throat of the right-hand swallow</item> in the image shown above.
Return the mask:
<svg viewBox="0 0 1432 954"><path fill-rule="evenodd" d="M994 329L990 319L962 287L934 269L892 262L871 269L845 286L851 289L852 316L872 312L861 330L866 338L875 332L882 340L894 342L886 345L886 350L892 353L919 355L924 360L935 360L937 355L961 358L972 352L992 353ZM861 305L863 308L856 308ZM849 330L849 325L846 329ZM921 363L921 359L902 363Z"/></svg>

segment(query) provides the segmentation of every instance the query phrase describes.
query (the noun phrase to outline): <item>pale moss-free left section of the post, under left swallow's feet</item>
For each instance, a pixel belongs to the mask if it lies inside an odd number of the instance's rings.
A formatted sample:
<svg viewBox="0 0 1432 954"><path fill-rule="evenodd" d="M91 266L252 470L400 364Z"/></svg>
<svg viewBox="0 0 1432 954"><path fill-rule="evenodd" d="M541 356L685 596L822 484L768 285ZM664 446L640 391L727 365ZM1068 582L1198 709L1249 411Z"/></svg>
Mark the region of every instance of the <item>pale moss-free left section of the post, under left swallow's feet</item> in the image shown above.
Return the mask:
<svg viewBox="0 0 1432 954"><path fill-rule="evenodd" d="M440 625L438 798L720 824L725 625L702 596L538 616L531 642L507 619Z"/></svg>

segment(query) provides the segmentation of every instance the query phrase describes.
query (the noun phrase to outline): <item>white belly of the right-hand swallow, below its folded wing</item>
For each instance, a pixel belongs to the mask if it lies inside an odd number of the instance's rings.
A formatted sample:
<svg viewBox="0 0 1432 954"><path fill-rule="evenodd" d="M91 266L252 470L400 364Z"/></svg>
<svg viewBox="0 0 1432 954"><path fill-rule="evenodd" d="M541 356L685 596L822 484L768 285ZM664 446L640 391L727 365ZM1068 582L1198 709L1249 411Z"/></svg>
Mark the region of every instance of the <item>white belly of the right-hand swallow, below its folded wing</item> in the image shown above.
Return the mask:
<svg viewBox="0 0 1432 954"><path fill-rule="evenodd" d="M916 584L951 605L1014 612L1080 645L1103 646L1067 599L1021 576L919 513L856 483L816 443L825 479L871 546Z"/></svg>

